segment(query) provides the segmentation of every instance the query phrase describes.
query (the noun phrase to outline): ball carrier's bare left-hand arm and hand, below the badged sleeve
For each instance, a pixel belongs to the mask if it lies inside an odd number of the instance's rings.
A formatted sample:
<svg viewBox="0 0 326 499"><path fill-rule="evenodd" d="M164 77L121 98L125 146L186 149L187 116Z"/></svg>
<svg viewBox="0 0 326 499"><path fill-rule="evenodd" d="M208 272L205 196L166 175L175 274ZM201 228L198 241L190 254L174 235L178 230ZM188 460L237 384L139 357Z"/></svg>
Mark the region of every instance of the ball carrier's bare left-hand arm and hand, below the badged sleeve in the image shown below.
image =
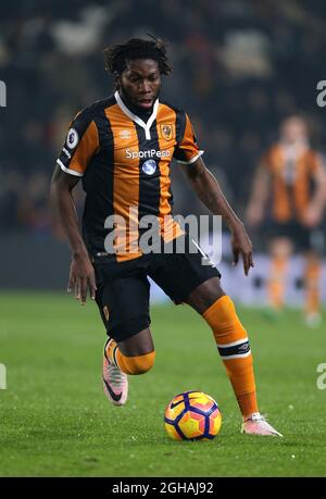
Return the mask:
<svg viewBox="0 0 326 499"><path fill-rule="evenodd" d="M75 298L84 304L88 288L91 298L95 299L96 279L93 266L78 227L78 216L72 194L78 180L78 177L63 172L58 164L51 182L51 204L55 209L72 250L67 291L71 292L74 289Z"/></svg>

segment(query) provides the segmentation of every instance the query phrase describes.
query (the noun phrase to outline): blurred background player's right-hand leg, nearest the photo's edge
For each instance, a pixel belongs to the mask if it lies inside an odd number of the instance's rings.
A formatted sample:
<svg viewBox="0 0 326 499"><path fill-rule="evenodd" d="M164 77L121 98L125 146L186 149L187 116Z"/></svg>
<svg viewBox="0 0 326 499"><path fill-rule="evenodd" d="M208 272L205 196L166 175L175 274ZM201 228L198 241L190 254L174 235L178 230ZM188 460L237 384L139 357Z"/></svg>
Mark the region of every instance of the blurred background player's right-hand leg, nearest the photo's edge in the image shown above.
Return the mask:
<svg viewBox="0 0 326 499"><path fill-rule="evenodd" d="M321 260L316 252L305 253L305 323L310 327L317 327L321 324Z"/></svg>

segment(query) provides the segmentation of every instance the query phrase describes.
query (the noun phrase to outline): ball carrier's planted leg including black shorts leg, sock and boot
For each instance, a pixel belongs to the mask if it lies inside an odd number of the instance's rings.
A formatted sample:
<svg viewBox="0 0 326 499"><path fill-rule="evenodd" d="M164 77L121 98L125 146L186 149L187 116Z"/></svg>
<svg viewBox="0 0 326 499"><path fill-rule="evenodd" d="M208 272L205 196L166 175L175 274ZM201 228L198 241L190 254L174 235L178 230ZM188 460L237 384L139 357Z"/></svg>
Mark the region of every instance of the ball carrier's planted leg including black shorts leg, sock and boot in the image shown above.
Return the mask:
<svg viewBox="0 0 326 499"><path fill-rule="evenodd" d="M158 255L156 260L159 264L150 272L153 280L175 303L189 303L213 329L243 419L250 417L244 431L260 435L276 435L276 431L264 422L258 412L247 332L236 314L231 299L220 285L220 272L212 264L208 264L209 259L202 259L202 254L191 252L191 241L188 252ZM253 422L254 417L259 421ZM254 427L248 429L250 424Z"/></svg>

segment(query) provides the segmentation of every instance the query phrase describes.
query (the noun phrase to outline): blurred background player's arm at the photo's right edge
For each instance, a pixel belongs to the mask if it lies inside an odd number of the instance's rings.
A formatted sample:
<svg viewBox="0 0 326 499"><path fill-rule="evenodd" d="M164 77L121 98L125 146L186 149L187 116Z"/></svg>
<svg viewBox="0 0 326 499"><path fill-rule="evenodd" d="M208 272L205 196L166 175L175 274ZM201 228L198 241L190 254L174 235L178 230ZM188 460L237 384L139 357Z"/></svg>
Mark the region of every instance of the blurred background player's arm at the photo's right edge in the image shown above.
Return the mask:
<svg viewBox="0 0 326 499"><path fill-rule="evenodd" d="M303 217L303 223L308 227L314 227L322 221L326 204L326 166L319 154L316 155L312 176L315 190Z"/></svg>

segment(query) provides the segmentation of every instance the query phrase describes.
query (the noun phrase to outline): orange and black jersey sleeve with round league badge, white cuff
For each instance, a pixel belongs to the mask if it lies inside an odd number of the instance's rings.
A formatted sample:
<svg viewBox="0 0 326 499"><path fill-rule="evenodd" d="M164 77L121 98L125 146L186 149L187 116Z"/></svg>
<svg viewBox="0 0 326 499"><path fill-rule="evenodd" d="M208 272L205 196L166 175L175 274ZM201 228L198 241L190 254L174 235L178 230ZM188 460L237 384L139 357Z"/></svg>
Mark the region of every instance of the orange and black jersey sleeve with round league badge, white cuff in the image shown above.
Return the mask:
<svg viewBox="0 0 326 499"><path fill-rule="evenodd" d="M80 111L71 122L57 163L65 173L83 177L89 161L98 151L97 125L89 112Z"/></svg>

